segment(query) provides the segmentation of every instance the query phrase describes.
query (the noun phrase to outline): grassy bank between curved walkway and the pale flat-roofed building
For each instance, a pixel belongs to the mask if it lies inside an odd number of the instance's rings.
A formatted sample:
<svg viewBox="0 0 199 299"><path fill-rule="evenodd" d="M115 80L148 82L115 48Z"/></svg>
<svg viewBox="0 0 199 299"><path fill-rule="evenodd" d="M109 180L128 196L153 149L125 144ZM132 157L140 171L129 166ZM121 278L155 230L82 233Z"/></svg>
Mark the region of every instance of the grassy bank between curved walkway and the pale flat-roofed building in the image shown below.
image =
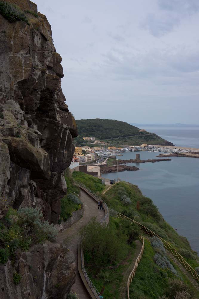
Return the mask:
<svg viewBox="0 0 199 299"><path fill-rule="evenodd" d="M83 173L81 171L73 171L72 177L75 181L84 184L97 194L99 192L101 193L106 188L105 185L102 185L101 179L98 179L95 176L90 176L89 174Z"/></svg>

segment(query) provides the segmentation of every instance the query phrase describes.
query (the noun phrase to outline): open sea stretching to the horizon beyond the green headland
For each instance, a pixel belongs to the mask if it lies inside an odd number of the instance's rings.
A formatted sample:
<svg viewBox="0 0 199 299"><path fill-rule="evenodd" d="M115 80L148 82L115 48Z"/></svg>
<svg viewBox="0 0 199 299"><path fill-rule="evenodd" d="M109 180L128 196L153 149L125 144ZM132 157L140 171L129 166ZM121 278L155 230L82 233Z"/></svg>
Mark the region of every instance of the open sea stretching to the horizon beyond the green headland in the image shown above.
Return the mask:
<svg viewBox="0 0 199 299"><path fill-rule="evenodd" d="M199 126L147 126L141 129L156 133L176 146L199 148Z"/></svg>

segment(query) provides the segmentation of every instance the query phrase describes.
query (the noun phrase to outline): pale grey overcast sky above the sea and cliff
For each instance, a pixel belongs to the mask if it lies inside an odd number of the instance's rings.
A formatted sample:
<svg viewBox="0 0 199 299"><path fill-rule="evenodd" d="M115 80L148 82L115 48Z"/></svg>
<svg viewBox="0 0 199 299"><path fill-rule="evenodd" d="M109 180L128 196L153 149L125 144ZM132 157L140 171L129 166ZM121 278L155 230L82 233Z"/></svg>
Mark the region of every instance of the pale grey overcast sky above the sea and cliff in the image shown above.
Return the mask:
<svg viewBox="0 0 199 299"><path fill-rule="evenodd" d="M198 0L33 0L76 119L199 123Z"/></svg>

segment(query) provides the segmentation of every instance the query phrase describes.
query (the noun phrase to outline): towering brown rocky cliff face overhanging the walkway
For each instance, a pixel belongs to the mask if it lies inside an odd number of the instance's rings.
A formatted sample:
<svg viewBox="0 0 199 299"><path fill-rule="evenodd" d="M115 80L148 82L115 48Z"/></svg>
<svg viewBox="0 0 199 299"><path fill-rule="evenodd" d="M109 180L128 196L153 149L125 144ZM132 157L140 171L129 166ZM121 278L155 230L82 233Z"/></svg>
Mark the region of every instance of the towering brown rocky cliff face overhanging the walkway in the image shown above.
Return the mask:
<svg viewBox="0 0 199 299"><path fill-rule="evenodd" d="M29 0L7 2L37 13ZM26 16L29 25L0 15L0 198L16 209L41 208L56 223L77 130L61 90L62 58L51 26L41 13Z"/></svg>

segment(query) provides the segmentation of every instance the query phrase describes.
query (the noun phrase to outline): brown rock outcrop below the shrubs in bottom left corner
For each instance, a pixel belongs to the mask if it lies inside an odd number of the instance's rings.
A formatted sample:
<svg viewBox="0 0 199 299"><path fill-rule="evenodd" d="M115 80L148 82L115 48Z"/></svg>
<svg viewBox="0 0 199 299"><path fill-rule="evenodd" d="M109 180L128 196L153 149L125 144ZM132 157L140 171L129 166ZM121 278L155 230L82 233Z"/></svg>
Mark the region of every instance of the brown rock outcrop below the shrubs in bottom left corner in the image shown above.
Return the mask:
<svg viewBox="0 0 199 299"><path fill-rule="evenodd" d="M16 285L13 276L21 277ZM13 265L0 265L1 299L64 299L75 281L74 254L60 244L48 241L28 252L18 251Z"/></svg>

